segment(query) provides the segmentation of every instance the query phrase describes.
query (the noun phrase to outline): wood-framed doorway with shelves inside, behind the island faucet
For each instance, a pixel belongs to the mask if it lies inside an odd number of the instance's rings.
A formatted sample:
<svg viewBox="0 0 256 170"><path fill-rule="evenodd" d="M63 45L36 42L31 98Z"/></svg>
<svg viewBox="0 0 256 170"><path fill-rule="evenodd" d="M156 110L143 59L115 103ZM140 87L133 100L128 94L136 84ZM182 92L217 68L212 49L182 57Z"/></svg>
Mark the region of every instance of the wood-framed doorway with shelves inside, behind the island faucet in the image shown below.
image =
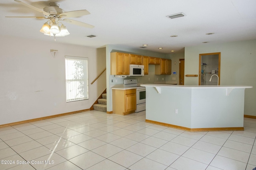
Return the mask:
<svg viewBox="0 0 256 170"><path fill-rule="evenodd" d="M220 53L199 54L198 84L220 85Z"/></svg>

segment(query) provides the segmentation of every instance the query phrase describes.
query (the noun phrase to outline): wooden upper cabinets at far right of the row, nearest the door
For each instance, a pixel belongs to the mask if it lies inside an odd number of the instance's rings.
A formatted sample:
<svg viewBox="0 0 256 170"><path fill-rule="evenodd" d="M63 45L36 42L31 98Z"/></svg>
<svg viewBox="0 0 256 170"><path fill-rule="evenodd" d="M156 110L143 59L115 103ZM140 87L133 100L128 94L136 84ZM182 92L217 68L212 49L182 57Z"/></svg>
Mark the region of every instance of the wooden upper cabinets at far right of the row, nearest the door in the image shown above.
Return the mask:
<svg viewBox="0 0 256 170"><path fill-rule="evenodd" d="M160 65L155 66L155 74L171 74L172 60L160 59Z"/></svg>

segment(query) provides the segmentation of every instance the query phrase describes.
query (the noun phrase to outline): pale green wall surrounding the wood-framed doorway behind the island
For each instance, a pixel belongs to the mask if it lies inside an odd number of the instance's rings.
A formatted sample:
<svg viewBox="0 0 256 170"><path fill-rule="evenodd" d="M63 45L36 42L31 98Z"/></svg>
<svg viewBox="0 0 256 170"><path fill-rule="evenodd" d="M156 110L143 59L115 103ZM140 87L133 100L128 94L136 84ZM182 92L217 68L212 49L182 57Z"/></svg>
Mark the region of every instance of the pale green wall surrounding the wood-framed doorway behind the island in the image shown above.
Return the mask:
<svg viewBox="0 0 256 170"><path fill-rule="evenodd" d="M199 54L221 53L220 85L248 85L244 114L256 116L256 40L185 47L185 74L199 73ZM185 77L185 85L198 85L198 77Z"/></svg>

